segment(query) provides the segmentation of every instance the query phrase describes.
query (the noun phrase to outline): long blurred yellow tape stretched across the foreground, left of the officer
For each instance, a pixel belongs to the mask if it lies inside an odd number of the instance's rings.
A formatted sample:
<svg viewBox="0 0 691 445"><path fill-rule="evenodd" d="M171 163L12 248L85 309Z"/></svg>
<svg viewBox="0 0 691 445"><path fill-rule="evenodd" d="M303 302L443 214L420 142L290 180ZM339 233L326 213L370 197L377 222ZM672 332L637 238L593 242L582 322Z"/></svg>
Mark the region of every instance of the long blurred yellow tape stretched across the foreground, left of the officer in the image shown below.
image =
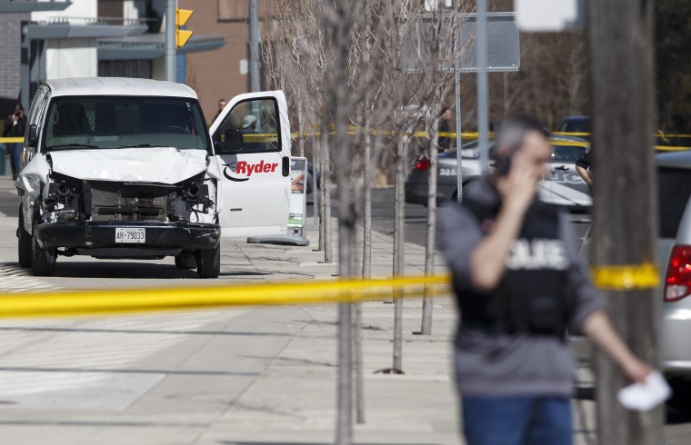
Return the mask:
<svg viewBox="0 0 691 445"><path fill-rule="evenodd" d="M385 280L329 280L253 283L172 289L121 289L0 295L0 318L110 315L132 312L180 311L226 306L364 302L392 297L448 294L449 275Z"/></svg>

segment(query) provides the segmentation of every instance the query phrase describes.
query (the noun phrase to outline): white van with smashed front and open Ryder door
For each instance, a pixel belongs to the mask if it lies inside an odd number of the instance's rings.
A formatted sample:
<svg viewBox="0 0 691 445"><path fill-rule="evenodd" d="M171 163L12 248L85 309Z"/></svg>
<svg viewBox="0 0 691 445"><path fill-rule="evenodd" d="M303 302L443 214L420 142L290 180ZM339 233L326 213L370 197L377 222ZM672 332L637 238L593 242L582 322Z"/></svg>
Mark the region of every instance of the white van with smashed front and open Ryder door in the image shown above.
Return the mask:
<svg viewBox="0 0 691 445"><path fill-rule="evenodd" d="M147 79L46 81L29 111L18 259L175 257L220 272L221 236L282 234L290 198L285 95L241 94L208 129L195 91Z"/></svg>

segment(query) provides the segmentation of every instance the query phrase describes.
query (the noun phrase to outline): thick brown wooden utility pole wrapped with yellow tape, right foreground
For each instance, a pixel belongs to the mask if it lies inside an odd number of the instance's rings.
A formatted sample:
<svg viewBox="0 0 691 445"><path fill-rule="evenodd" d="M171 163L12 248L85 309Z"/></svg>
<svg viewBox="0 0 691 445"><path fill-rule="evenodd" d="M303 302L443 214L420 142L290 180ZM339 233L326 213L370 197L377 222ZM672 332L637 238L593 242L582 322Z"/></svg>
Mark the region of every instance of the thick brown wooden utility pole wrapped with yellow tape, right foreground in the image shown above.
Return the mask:
<svg viewBox="0 0 691 445"><path fill-rule="evenodd" d="M626 343L656 367L657 292L638 278L656 270L656 182L653 163L653 5L647 0L590 0L595 281ZM652 272L651 272L652 270ZM608 272L604 282L600 272ZM622 372L596 356L598 442L663 442L662 407L627 411L616 400Z"/></svg>

